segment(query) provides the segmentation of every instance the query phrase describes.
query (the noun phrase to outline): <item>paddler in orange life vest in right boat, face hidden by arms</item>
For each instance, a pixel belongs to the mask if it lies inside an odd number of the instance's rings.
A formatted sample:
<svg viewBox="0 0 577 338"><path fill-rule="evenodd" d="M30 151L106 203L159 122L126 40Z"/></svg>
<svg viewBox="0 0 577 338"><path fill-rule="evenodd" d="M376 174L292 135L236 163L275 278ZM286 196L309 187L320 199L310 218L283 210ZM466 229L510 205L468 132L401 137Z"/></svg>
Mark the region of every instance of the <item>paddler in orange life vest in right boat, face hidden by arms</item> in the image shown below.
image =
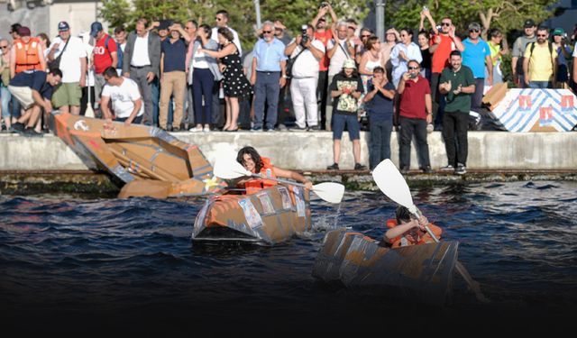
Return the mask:
<svg viewBox="0 0 577 338"><path fill-rule="evenodd" d="M435 239L426 232L427 225L437 239L441 238L443 230L435 224L429 224L424 215L418 220L413 219L407 207L398 206L395 216L396 220L387 221L389 230L384 236L384 241L392 248L435 242Z"/></svg>

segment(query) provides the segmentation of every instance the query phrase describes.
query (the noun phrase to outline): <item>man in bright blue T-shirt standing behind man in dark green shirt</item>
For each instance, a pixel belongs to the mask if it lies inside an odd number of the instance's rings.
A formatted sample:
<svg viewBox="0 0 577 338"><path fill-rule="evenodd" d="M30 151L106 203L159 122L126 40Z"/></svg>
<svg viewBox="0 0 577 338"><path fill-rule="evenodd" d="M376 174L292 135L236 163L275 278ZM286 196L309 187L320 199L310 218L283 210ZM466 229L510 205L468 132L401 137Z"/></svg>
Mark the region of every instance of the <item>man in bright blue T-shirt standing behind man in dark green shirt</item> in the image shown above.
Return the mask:
<svg viewBox="0 0 577 338"><path fill-rule="evenodd" d="M469 37L463 40L463 66L472 70L475 78L475 93L471 97L471 110L481 113L481 102L485 87L485 67L487 68L488 83L493 81L493 67L490 59L489 44L481 39L481 25L479 23L469 24Z"/></svg>

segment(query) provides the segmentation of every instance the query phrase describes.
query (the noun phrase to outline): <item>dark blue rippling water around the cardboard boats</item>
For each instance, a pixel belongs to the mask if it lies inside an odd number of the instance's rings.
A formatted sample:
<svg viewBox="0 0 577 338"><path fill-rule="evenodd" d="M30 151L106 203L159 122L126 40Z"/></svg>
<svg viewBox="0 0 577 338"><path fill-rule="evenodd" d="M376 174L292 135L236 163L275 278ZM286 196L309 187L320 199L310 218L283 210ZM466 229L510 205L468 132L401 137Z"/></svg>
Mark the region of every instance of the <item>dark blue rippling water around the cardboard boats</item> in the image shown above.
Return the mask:
<svg viewBox="0 0 577 338"><path fill-rule="evenodd" d="M453 302L441 309L311 277L335 224L382 237L395 206L377 192L348 192L338 208L313 199L314 230L275 247L194 245L200 198L0 196L2 318L44 332L358 331L399 320L402 308L452 327L487 328L485 318L567 325L577 304L576 191L575 182L413 191L492 300L476 303L455 275Z"/></svg>

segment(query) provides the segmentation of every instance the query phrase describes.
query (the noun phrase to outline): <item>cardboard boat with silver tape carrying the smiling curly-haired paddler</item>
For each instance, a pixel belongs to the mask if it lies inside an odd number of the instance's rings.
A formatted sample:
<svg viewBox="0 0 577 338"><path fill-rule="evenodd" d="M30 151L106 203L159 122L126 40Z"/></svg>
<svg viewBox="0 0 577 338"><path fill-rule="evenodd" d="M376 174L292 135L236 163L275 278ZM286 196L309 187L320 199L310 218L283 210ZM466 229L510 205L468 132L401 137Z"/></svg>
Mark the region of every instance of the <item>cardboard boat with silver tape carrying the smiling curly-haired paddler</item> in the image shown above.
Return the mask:
<svg viewBox="0 0 577 338"><path fill-rule="evenodd" d="M252 195L210 196L197 215L192 240L263 245L287 241L311 229L309 196L302 187L290 185Z"/></svg>

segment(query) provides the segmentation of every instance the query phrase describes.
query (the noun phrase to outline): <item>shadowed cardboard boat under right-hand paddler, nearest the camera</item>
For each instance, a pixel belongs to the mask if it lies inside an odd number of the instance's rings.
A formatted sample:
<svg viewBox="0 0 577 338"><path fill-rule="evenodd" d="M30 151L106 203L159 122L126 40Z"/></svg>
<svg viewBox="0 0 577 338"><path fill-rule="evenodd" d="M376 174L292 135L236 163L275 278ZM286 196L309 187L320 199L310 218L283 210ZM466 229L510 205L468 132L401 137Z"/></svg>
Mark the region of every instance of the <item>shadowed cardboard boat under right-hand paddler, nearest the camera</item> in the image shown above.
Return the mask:
<svg viewBox="0 0 577 338"><path fill-rule="evenodd" d="M458 242L390 249L362 233L326 233L313 276L371 295L443 305L453 286Z"/></svg>

